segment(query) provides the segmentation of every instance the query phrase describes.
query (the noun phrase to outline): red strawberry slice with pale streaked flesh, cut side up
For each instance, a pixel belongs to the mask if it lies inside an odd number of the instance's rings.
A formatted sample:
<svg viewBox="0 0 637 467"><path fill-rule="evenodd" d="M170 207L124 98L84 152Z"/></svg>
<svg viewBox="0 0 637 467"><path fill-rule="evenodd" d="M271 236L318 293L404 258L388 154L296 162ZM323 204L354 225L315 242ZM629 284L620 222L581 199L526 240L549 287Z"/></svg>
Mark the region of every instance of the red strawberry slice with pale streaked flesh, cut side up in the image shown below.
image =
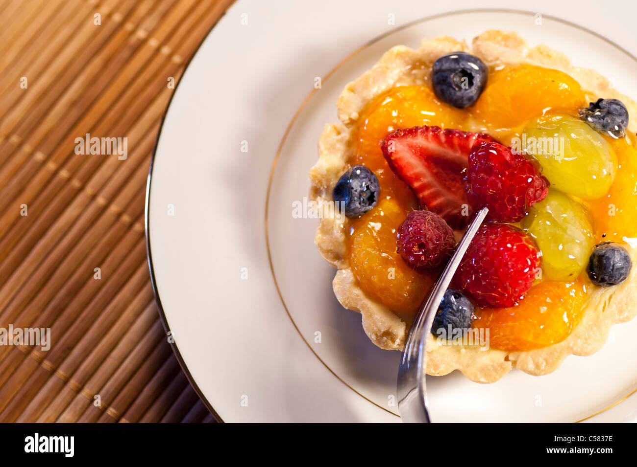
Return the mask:
<svg viewBox="0 0 637 467"><path fill-rule="evenodd" d="M414 126L389 133L381 147L392 170L418 196L420 203L440 215L454 229L467 226L469 206L463 171L477 139L495 141L483 133L461 132L440 126Z"/></svg>

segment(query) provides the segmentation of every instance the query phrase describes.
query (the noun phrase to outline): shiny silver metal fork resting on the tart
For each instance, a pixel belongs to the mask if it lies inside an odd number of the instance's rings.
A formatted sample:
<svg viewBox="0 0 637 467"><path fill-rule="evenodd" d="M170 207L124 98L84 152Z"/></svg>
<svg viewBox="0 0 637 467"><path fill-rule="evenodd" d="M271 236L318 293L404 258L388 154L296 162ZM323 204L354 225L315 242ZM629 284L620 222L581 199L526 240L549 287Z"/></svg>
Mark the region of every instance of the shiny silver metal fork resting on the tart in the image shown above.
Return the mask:
<svg viewBox="0 0 637 467"><path fill-rule="evenodd" d="M476 215L473 222L462 237L458 248L451 257L442 274L431 289L429 297L420 307L412 330L404 344L403 358L398 367L397 395L398 410L405 423L431 423L429 410L427 409L427 391L425 389L425 371L427 368L427 352L425 342L427 335L431 332L431 327L438 311L438 306L442 301L445 290L454 277L455 270L458 269L464 252L471 243L471 239L478 231L485 216L489 213L488 208L482 208Z"/></svg>

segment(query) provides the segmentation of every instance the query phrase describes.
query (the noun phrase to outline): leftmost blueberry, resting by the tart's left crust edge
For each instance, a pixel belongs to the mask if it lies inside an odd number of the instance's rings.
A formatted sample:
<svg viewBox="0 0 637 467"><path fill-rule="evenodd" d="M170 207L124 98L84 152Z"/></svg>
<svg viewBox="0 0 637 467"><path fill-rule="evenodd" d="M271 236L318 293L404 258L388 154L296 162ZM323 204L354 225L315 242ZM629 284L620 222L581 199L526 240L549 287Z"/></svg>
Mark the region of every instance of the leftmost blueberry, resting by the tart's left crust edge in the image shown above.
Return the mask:
<svg viewBox="0 0 637 467"><path fill-rule="evenodd" d="M378 203L380 185L374 172L355 165L341 175L334 187L334 201L345 203L347 217L361 217Z"/></svg>

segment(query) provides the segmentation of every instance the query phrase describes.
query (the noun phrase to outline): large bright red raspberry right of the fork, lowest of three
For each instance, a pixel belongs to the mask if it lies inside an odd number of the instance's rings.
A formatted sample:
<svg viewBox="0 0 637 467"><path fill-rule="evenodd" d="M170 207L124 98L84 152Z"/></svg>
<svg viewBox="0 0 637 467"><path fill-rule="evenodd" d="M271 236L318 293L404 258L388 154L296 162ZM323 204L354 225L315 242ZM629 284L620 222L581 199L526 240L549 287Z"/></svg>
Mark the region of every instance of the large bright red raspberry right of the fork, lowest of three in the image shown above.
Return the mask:
<svg viewBox="0 0 637 467"><path fill-rule="evenodd" d="M478 306L513 306L533 285L538 254L531 237L517 227L485 224L471 240L454 281Z"/></svg>

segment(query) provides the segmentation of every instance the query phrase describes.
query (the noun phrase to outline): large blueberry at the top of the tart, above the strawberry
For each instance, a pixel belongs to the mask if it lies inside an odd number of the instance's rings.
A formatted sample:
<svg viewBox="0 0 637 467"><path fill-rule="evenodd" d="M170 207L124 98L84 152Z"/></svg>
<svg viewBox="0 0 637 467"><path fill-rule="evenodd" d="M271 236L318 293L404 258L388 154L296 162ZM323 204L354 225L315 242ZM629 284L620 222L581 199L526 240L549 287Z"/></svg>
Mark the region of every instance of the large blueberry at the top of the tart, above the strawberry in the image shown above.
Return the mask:
<svg viewBox="0 0 637 467"><path fill-rule="evenodd" d="M475 104L487 85L487 66L480 58L465 52L438 58L432 75L436 97L458 109Z"/></svg>

